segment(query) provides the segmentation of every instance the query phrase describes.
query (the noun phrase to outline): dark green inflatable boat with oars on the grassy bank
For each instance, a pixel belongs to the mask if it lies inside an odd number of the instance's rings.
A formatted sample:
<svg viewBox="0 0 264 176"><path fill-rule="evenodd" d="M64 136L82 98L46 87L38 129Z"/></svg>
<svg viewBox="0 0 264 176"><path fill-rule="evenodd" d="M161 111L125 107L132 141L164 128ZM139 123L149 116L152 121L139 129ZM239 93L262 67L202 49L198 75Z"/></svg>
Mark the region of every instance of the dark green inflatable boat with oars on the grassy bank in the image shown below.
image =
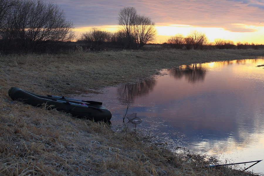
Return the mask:
<svg viewBox="0 0 264 176"><path fill-rule="evenodd" d="M94 121L110 121L112 114L101 102L84 101L57 96L44 96L24 91L18 87L11 87L8 91L9 97L32 106L46 107L64 111L77 118L87 118Z"/></svg>

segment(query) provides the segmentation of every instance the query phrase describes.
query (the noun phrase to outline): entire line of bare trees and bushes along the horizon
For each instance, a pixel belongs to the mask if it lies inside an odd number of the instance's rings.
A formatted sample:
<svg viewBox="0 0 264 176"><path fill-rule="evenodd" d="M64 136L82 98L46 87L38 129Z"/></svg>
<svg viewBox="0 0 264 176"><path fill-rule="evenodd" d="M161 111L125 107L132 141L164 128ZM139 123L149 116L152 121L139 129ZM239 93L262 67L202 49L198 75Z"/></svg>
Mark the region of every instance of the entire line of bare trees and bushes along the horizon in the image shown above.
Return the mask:
<svg viewBox="0 0 264 176"><path fill-rule="evenodd" d="M87 50L106 48L142 48L155 41L155 23L140 15L134 7L120 9L120 28L117 32L92 28L79 38L74 33L74 24L57 4L44 0L0 0L0 52L47 52L69 49L73 40ZM186 37L172 36L162 44L165 48L177 49L263 49L263 45L240 43L230 40L208 42L204 33L191 31ZM210 47L214 46L214 48Z"/></svg>

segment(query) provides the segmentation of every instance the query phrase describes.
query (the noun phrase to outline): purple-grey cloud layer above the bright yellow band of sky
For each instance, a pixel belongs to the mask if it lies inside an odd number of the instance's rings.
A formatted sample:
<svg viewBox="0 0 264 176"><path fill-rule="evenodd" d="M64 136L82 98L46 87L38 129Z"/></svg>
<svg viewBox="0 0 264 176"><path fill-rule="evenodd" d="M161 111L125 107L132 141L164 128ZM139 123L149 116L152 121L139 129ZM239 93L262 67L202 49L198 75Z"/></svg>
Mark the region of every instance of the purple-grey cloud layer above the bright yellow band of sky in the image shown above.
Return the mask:
<svg viewBox="0 0 264 176"><path fill-rule="evenodd" d="M46 0L48 2L48 0ZM53 0L64 9L76 27L117 25L119 10L133 6L157 25L185 24L221 27L230 31L252 31L233 24L260 25L264 19L263 0Z"/></svg>

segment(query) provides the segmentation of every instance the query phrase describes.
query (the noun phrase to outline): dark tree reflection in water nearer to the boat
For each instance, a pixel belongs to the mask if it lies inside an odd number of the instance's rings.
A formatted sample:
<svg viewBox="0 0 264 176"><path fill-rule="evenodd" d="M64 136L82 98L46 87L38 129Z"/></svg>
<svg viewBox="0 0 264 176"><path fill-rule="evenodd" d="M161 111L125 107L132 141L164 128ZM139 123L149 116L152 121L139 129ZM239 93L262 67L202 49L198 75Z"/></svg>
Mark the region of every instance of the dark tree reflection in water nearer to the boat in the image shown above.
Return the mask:
<svg viewBox="0 0 264 176"><path fill-rule="evenodd" d="M117 89L118 99L124 104L133 103L136 97L142 97L151 92L156 80L144 80L136 84L125 84Z"/></svg>

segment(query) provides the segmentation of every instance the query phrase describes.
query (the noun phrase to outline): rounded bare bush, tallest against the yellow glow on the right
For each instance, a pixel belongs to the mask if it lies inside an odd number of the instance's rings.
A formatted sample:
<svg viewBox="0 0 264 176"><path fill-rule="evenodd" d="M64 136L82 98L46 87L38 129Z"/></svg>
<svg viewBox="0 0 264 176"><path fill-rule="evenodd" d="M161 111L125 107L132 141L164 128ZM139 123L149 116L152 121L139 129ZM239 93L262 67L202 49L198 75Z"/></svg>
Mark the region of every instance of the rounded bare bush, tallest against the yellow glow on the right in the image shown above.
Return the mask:
<svg viewBox="0 0 264 176"><path fill-rule="evenodd" d="M206 35L198 31L191 31L189 35L187 35L187 38L191 41L194 50L202 49L208 41Z"/></svg>

